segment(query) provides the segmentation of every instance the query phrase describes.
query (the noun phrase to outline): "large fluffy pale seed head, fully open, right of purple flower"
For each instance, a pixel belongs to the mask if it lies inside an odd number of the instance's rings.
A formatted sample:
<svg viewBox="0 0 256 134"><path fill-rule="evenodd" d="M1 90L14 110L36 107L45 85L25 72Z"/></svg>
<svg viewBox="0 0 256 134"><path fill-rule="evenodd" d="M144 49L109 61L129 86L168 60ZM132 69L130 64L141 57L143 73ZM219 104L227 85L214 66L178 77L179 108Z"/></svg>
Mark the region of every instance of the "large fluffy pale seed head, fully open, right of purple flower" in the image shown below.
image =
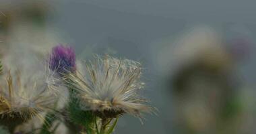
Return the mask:
<svg viewBox="0 0 256 134"><path fill-rule="evenodd" d="M152 110L137 94L143 87L140 66L133 60L97 57L86 62L84 74L69 74L67 86L79 92L82 109L94 111L99 117L113 118L123 113L140 117L142 112Z"/></svg>

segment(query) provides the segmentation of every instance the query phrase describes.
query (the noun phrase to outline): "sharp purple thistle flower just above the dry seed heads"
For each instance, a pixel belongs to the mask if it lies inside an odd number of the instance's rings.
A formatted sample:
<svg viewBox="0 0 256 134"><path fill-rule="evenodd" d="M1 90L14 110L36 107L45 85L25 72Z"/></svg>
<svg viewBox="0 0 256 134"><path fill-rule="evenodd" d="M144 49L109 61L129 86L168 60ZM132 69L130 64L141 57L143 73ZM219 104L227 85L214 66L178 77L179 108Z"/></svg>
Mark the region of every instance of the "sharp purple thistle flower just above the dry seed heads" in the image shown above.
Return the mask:
<svg viewBox="0 0 256 134"><path fill-rule="evenodd" d="M75 52L69 46L55 46L49 58L49 68L59 74L75 71Z"/></svg>

